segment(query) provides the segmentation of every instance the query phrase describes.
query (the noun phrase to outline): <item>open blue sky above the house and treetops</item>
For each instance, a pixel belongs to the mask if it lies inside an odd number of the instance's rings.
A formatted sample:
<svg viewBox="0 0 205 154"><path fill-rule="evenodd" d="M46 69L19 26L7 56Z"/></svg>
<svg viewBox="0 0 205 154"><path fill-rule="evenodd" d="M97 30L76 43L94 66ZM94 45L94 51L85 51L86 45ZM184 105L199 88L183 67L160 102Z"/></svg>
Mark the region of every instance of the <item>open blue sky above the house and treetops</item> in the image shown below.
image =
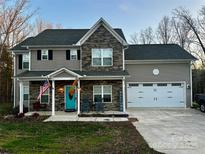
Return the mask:
<svg viewBox="0 0 205 154"><path fill-rule="evenodd" d="M180 6L197 15L205 0L30 0L36 16L63 28L90 28L103 17L113 28L122 28L126 38L151 26Z"/></svg>

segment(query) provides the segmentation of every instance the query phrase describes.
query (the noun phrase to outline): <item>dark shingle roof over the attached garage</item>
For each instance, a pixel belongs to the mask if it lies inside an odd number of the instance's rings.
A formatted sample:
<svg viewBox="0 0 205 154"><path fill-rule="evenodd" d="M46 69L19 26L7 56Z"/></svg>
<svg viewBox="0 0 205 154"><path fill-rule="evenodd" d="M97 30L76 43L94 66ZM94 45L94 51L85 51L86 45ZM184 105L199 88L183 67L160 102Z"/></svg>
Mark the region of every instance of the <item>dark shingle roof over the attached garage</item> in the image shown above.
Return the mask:
<svg viewBox="0 0 205 154"><path fill-rule="evenodd" d="M196 60L177 44L129 45L125 60Z"/></svg>

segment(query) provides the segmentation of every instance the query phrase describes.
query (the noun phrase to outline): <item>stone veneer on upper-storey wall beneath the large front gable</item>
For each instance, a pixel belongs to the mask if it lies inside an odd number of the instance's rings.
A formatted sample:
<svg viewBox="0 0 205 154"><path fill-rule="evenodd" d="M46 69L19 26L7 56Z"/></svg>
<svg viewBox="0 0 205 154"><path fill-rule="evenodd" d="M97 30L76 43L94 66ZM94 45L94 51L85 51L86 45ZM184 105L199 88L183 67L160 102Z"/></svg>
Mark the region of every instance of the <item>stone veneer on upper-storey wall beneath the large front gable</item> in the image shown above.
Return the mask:
<svg viewBox="0 0 205 154"><path fill-rule="evenodd" d="M92 48L113 48L113 66L92 67ZM83 71L114 71L123 69L123 45L101 25L82 45L82 70Z"/></svg>

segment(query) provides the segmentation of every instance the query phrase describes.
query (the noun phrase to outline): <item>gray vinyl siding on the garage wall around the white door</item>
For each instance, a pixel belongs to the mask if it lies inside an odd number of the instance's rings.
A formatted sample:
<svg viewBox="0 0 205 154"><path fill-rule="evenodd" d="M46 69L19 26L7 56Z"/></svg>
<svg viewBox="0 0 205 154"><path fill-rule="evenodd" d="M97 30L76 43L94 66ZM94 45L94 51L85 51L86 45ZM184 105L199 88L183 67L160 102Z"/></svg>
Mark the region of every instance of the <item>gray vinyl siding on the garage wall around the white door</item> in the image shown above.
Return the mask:
<svg viewBox="0 0 205 154"><path fill-rule="evenodd" d="M189 63L152 63L125 64L129 77L126 82L174 82L185 81L190 84ZM153 69L159 69L159 75L153 75ZM127 86L127 84L126 84ZM126 95L127 96L127 95ZM187 107L191 106L191 90L186 89Z"/></svg>

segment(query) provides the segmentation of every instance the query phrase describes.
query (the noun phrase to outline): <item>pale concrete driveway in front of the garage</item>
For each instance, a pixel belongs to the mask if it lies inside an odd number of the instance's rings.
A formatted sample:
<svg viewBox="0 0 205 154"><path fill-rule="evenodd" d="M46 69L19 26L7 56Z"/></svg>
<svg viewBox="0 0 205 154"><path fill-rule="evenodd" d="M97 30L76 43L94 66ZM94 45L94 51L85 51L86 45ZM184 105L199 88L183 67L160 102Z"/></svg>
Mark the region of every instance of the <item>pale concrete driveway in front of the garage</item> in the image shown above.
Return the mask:
<svg viewBox="0 0 205 154"><path fill-rule="evenodd" d="M205 113L195 109L129 108L137 130L157 151L169 154L205 153Z"/></svg>

